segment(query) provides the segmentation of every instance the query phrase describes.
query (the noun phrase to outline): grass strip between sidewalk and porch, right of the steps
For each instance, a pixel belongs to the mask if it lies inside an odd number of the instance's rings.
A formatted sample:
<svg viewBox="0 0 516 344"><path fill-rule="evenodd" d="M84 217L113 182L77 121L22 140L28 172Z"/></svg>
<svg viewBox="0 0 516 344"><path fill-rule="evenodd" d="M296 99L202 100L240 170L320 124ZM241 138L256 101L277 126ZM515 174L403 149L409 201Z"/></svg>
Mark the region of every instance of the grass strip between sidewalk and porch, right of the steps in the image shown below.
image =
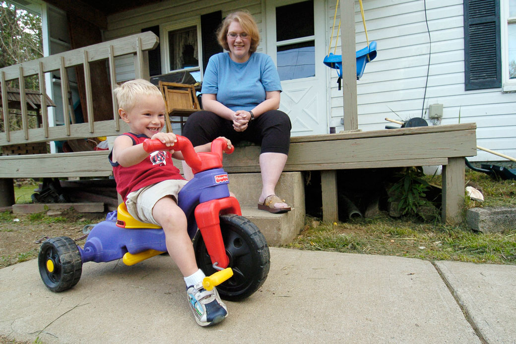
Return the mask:
<svg viewBox="0 0 516 344"><path fill-rule="evenodd" d="M427 178L432 184L441 184L440 176ZM471 207L516 206L516 181L496 181L474 171L466 173L467 181L476 183L482 189L485 202L466 197L464 212ZM307 218L303 232L286 247L395 255L432 261L516 264L516 229L483 234L470 230L465 223L450 226L423 222L414 217L393 219L385 213L374 219L334 224L322 224L318 219Z"/></svg>

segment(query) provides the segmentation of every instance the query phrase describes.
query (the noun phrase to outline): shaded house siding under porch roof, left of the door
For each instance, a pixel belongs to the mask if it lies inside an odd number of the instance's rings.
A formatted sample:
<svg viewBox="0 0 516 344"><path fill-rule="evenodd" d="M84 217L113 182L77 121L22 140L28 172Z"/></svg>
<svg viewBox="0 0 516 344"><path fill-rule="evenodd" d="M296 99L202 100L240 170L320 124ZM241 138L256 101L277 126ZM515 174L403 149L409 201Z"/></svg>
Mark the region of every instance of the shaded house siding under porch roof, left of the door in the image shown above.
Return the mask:
<svg viewBox="0 0 516 344"><path fill-rule="evenodd" d="M222 10L222 17L230 12L247 9L253 14L260 29L262 28L262 2L260 0L222 1L222 0L183 0L164 1L110 15L107 18L108 29L104 31L104 41L138 34L141 29L166 25L176 21L199 19L202 14ZM262 31L262 29L261 29ZM261 32L261 36L265 36ZM260 44L258 51L261 51ZM134 61L132 56L115 59L117 81L134 79Z"/></svg>

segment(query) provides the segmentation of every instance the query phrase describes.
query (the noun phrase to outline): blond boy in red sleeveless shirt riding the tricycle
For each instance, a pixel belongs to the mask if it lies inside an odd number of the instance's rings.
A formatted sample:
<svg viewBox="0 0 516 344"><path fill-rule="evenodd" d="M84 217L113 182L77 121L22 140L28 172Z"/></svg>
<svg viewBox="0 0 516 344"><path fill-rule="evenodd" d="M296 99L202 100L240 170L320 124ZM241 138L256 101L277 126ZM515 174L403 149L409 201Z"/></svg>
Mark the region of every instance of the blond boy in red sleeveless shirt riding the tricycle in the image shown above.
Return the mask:
<svg viewBox="0 0 516 344"><path fill-rule="evenodd" d="M216 288L207 291L202 287L205 276L197 267L186 215L177 204L178 193L187 181L173 166L171 156L183 159L183 155L173 150L151 154L143 150L142 142L147 138L159 139L167 146L176 141L174 134L161 132L165 125L163 96L143 79L127 81L115 94L118 113L131 128L130 133L116 138L109 154L117 191L135 219L163 227L167 251L184 276L195 320L201 326L216 324L228 311ZM196 151L209 151L209 144L197 146Z"/></svg>

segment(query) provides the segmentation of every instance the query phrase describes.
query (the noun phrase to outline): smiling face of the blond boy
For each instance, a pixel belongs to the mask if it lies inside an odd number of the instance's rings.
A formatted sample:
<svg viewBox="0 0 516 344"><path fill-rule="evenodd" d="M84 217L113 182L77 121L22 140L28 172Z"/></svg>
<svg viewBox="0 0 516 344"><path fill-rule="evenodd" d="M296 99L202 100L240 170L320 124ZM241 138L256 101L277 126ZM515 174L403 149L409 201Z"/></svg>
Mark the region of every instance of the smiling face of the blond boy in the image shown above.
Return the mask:
<svg viewBox="0 0 516 344"><path fill-rule="evenodd" d="M119 109L119 113L133 134L152 137L165 126L165 102L160 95L139 96L131 110Z"/></svg>

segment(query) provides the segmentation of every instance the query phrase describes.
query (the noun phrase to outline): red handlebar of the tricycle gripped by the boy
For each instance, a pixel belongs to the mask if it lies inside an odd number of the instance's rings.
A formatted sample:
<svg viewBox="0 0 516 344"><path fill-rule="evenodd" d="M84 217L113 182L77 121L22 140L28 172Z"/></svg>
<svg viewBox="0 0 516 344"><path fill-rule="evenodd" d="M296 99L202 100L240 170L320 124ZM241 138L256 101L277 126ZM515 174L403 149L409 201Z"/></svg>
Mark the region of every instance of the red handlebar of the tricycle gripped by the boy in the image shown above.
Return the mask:
<svg viewBox="0 0 516 344"><path fill-rule="evenodd" d="M181 135L175 136L177 141L172 146L167 146L158 139L146 139L143 141L143 150L151 153L159 150L171 150L180 151L183 153L188 166L192 168L193 173L205 171L212 168L222 167L222 153L231 154L235 150L234 146L228 149L228 142L223 138L216 138L213 140L211 145L212 153L197 153L193 146L186 137ZM213 154L216 154L220 160L214 161ZM218 159L217 159L218 160Z"/></svg>

